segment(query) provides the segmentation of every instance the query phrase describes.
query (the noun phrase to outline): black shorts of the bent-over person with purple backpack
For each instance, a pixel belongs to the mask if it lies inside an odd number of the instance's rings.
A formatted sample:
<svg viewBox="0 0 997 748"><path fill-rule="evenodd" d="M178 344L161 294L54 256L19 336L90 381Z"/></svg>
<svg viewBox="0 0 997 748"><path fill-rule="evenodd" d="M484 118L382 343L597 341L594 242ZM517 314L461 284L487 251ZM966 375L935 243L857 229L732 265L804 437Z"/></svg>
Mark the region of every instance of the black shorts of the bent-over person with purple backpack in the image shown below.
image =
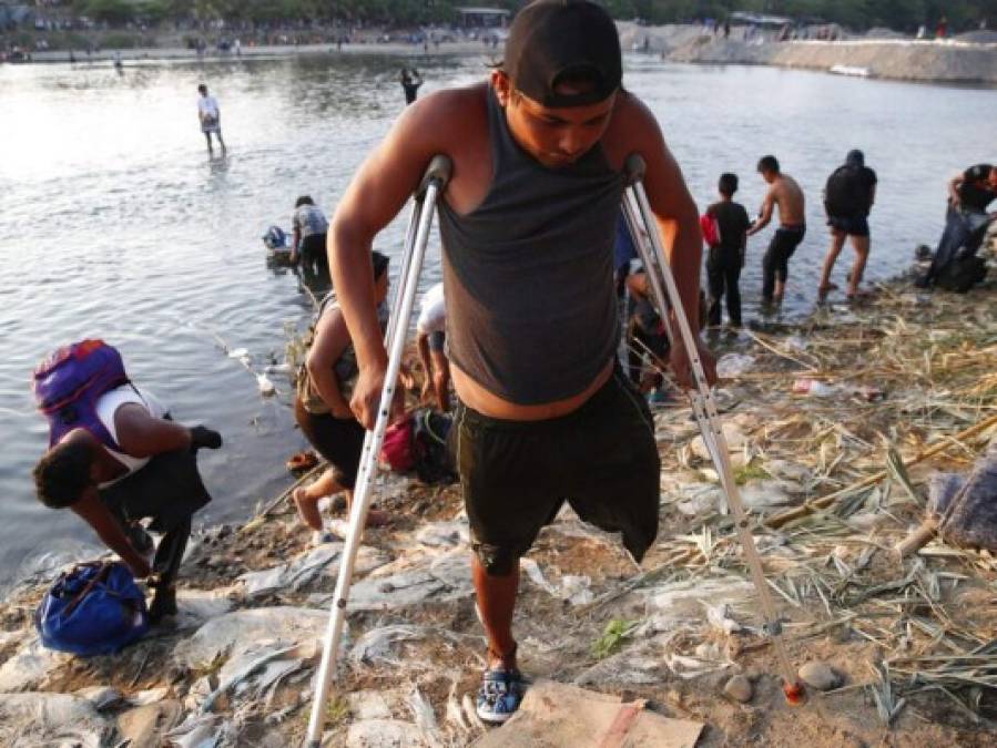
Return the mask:
<svg viewBox="0 0 997 748"><path fill-rule="evenodd" d="M149 529L159 533L179 527L211 501L197 458L187 450L156 454L141 470L98 493L114 515L128 522L152 518Z"/></svg>

